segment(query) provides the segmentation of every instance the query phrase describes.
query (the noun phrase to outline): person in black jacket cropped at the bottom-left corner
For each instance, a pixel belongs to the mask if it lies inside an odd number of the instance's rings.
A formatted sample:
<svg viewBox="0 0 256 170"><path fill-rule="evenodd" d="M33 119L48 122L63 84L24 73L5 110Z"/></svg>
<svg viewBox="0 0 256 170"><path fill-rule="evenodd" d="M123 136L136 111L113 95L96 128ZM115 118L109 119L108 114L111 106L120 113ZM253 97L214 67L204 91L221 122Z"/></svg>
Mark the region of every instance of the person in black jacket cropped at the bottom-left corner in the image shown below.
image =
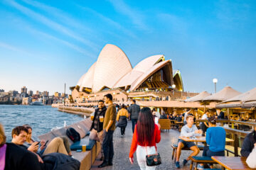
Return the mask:
<svg viewBox="0 0 256 170"><path fill-rule="evenodd" d="M1 164L0 168L4 166L4 170L41 170L44 167L38 162L38 158L33 152L14 143L6 143L4 128L0 124L0 155L3 153L5 153L5 163Z"/></svg>

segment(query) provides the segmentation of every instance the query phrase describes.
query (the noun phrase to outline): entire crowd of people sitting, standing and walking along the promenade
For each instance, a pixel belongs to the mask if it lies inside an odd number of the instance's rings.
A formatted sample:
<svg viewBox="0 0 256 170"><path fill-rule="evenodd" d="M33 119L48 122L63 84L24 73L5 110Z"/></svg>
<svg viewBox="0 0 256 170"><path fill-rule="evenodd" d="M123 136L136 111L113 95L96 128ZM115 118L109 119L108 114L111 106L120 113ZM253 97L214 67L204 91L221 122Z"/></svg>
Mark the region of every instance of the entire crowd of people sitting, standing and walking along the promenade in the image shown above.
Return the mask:
<svg viewBox="0 0 256 170"><path fill-rule="evenodd" d="M107 106L105 106L107 104ZM106 94L105 101L98 101L94 118L90 128L90 140L97 140L102 146L102 164L98 167L112 166L114 158L113 134L116 128L120 128L121 136L124 137L128 120L132 121L132 145L129 152L129 161L134 164L134 152L137 154L137 162L140 169L155 169L156 166L146 164L146 155L157 154L156 143L161 140L161 126L155 119L171 119L183 122L181 137L201 137L206 136L206 146L203 148L202 156L225 156L224 128L216 125L216 119L224 118L224 114L219 111L218 115L206 111L202 120L207 120L200 124L200 129L194 124L195 117L193 110L188 109L183 114L166 114L164 111L156 111L148 107L140 108L136 101L132 101L131 106L115 105L112 95ZM70 151L68 138L65 136L55 137L50 142L38 140L32 135L30 125L17 126L11 132L11 143L6 143L4 128L0 125L0 170L4 169L45 169L43 155L50 153L64 154L73 157ZM198 145L194 142L177 141L176 162L177 169L181 168L180 157L183 147L191 149L191 154L183 159L182 165L186 166L191 157L200 153ZM255 165L256 154L256 127L245 137L242 144L241 156L247 157L247 164L250 167ZM199 164L198 169L213 168L212 164Z"/></svg>

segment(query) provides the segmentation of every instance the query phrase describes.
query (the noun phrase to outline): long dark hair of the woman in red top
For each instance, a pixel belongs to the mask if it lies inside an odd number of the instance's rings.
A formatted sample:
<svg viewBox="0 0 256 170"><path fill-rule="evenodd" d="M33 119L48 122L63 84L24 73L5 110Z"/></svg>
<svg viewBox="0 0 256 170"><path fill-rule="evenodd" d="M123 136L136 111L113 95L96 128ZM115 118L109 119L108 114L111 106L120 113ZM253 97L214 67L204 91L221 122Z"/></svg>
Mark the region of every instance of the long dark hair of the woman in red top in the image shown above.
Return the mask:
<svg viewBox="0 0 256 170"><path fill-rule="evenodd" d="M142 143L150 142L154 135L154 118L150 108L142 108L137 122L137 139Z"/></svg>

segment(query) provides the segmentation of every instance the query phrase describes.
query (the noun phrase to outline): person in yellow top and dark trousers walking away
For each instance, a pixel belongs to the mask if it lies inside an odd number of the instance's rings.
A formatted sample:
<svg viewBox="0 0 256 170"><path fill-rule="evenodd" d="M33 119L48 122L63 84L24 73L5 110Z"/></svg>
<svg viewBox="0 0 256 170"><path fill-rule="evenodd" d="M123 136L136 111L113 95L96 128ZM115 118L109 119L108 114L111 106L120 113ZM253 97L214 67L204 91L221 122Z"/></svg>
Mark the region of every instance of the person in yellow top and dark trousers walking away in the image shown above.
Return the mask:
<svg viewBox="0 0 256 170"><path fill-rule="evenodd" d="M128 111L125 109L124 104L122 104L121 109L117 113L117 126L121 129L121 136L124 135L125 128L127 127L127 118L129 117Z"/></svg>

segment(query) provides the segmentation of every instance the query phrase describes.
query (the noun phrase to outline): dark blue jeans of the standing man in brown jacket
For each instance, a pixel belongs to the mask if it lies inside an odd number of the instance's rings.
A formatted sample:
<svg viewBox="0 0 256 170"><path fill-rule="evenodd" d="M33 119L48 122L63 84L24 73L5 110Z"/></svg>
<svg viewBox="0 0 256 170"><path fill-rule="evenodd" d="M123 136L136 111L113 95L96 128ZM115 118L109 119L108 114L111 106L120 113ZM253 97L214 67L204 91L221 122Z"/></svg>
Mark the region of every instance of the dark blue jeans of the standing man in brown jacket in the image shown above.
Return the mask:
<svg viewBox="0 0 256 170"><path fill-rule="evenodd" d="M103 142L102 142L102 149L104 153L104 162L112 163L114 157L114 145L113 145L113 133L114 130L109 130L103 132Z"/></svg>

